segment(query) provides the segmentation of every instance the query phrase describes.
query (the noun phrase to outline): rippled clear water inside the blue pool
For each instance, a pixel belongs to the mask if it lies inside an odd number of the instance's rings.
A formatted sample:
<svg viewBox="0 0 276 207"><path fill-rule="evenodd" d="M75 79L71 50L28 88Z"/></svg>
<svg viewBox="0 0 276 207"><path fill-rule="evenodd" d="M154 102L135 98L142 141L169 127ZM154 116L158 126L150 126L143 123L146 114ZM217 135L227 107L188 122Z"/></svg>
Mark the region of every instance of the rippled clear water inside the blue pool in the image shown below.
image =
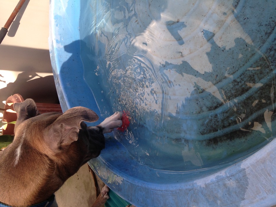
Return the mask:
<svg viewBox="0 0 276 207"><path fill-rule="evenodd" d="M273 1L82 2L84 78L139 163L235 162L275 135L275 22Z"/></svg>

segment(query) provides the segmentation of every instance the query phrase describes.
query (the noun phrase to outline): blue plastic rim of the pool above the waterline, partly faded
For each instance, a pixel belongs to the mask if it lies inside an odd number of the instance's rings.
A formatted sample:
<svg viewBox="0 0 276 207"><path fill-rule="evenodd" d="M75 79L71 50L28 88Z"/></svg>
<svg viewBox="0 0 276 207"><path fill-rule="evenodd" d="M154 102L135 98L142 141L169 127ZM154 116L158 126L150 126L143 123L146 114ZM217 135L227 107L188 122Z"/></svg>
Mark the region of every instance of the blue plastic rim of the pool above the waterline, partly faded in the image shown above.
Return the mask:
<svg viewBox="0 0 276 207"><path fill-rule="evenodd" d="M84 106L100 114L83 77L78 8L79 3L72 0L52 0L50 4L49 48L56 88L63 111ZM100 117L97 123L102 120ZM106 148L89 165L109 188L137 207L273 206L276 204L275 148L274 139L228 167L162 171L137 163L110 134Z"/></svg>

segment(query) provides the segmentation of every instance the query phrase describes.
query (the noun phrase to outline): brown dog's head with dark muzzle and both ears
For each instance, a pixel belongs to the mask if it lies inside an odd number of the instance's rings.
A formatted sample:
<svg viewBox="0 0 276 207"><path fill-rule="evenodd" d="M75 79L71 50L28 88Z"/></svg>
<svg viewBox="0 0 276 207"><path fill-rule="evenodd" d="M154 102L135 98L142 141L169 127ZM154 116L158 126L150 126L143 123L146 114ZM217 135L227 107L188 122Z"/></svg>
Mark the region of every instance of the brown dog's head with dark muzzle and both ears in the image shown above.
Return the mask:
<svg viewBox="0 0 276 207"><path fill-rule="evenodd" d="M74 107L65 113L39 114L32 99L14 104L17 113L15 139L21 139L40 153L50 157L79 159L86 162L99 156L104 148L104 135L100 127L87 127L83 121L94 122L97 114L85 107ZM80 154L81 156L76 156ZM71 160L73 161L73 160Z"/></svg>

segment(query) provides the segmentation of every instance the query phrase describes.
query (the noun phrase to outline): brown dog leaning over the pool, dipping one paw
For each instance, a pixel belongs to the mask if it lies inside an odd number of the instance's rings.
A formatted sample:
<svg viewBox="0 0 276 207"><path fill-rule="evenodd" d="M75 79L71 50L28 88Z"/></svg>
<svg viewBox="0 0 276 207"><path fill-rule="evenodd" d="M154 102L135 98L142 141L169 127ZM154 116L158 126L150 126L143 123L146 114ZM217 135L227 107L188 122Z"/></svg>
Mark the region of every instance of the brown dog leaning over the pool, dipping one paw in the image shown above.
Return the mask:
<svg viewBox="0 0 276 207"><path fill-rule="evenodd" d="M39 115L32 99L15 103L14 109L14 141L0 152L0 202L9 206L46 203L67 178L99 156L103 133L122 125L122 114L116 112L87 127L83 121L99 117L84 107Z"/></svg>

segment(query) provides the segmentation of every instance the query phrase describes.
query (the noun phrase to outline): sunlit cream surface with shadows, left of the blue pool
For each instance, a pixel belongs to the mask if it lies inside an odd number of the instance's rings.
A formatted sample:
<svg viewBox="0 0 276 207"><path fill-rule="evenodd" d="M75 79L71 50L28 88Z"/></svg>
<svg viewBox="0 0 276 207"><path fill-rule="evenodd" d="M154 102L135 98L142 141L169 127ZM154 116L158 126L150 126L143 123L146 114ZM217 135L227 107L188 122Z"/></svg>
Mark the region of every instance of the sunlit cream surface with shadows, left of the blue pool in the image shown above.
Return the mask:
<svg viewBox="0 0 276 207"><path fill-rule="evenodd" d="M18 2L0 0L0 27ZM15 36L9 36L14 31L11 26L0 45L0 108L2 101L15 93L36 102L58 102L48 46L49 3L26 0L15 19L21 17Z"/></svg>

